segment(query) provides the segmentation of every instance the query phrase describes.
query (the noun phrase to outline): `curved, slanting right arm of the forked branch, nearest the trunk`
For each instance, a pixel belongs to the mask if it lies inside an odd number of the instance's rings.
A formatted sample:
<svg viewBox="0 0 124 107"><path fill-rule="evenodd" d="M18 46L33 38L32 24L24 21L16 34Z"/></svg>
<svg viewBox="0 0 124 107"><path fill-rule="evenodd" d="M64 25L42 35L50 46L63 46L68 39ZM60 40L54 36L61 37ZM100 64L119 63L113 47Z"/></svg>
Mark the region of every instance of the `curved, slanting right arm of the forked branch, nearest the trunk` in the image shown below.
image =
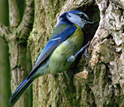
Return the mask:
<svg viewBox="0 0 124 107"><path fill-rule="evenodd" d="M19 38L23 40L27 40L29 33L33 27L33 22L34 22L34 1L27 0L22 22L17 28L17 32L20 33Z"/></svg>

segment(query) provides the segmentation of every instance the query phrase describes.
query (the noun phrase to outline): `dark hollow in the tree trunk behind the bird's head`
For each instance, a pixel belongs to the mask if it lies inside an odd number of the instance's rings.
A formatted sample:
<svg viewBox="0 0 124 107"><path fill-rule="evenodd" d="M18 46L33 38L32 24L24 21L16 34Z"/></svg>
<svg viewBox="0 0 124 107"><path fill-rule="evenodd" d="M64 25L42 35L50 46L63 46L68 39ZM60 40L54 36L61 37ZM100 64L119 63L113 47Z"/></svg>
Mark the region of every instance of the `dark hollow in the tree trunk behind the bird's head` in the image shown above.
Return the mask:
<svg viewBox="0 0 124 107"><path fill-rule="evenodd" d="M80 10L86 13L90 20L94 22L92 25L85 25L84 27L84 45L89 41L92 40L94 34L98 28L99 21L100 21L100 12L98 6L93 3L90 6L83 6L79 7L77 10Z"/></svg>

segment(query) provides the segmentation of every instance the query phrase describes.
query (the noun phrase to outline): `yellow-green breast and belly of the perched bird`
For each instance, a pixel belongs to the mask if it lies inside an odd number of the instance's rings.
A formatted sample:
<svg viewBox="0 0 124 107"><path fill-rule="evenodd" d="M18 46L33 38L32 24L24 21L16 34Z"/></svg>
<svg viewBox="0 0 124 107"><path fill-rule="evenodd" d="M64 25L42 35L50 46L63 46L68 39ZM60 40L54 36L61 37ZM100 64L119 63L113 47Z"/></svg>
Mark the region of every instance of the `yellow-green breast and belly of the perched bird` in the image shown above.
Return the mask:
<svg viewBox="0 0 124 107"><path fill-rule="evenodd" d="M83 44L83 32L77 25L76 31L64 42L62 42L51 54L49 58L49 71L54 74L70 68L72 62L67 59L77 53Z"/></svg>

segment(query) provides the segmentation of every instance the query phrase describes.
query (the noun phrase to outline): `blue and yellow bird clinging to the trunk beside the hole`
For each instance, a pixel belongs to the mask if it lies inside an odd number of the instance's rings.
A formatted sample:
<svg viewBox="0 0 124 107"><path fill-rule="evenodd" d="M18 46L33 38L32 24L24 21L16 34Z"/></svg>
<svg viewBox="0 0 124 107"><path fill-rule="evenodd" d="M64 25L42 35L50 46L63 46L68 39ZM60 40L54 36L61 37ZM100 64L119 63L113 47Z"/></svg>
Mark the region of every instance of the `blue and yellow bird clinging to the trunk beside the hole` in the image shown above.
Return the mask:
<svg viewBox="0 0 124 107"><path fill-rule="evenodd" d="M83 46L83 28L86 24L92 23L89 17L79 10L70 10L58 17L54 31L39 54L31 72L10 97L10 106L15 105L21 95L39 76L61 73L71 67L78 54L90 43ZM88 57L86 54L85 56Z"/></svg>

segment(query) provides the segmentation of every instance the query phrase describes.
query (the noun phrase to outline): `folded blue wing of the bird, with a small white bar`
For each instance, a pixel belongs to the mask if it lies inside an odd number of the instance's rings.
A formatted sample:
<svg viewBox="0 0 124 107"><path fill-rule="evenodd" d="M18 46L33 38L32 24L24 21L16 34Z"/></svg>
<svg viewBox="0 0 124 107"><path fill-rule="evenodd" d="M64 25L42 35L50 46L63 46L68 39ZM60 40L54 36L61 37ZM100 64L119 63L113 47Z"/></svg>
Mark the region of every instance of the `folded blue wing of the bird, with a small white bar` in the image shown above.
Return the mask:
<svg viewBox="0 0 124 107"><path fill-rule="evenodd" d="M50 54L54 51L54 49L63 41L68 39L75 32L76 29L77 27L74 25L69 26L62 33L51 38L47 43L47 45L42 50L42 52L40 53L40 55L38 56L37 61L34 64L34 67L27 78L30 78L32 74L36 72L37 68L41 65L41 63L50 56Z"/></svg>

